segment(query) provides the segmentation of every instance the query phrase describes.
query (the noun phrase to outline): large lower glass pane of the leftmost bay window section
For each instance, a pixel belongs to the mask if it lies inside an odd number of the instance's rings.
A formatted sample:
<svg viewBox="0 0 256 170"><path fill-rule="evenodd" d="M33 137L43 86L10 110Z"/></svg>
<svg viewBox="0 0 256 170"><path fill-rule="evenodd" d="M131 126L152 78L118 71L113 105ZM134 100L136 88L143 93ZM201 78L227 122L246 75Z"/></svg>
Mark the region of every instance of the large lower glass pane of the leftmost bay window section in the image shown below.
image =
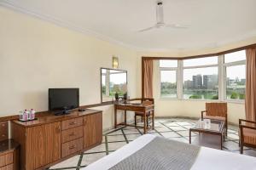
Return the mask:
<svg viewBox="0 0 256 170"><path fill-rule="evenodd" d="M177 98L176 71L160 71L161 89L163 98Z"/></svg>

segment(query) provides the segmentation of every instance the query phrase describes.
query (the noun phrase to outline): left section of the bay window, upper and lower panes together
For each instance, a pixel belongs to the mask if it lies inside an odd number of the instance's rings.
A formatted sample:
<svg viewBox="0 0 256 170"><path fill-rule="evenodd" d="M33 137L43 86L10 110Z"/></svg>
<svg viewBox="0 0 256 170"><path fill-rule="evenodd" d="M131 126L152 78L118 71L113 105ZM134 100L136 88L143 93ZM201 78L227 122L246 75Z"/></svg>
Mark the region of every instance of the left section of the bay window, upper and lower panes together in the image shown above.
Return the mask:
<svg viewBox="0 0 256 170"><path fill-rule="evenodd" d="M177 98L177 60L160 60L160 97Z"/></svg>

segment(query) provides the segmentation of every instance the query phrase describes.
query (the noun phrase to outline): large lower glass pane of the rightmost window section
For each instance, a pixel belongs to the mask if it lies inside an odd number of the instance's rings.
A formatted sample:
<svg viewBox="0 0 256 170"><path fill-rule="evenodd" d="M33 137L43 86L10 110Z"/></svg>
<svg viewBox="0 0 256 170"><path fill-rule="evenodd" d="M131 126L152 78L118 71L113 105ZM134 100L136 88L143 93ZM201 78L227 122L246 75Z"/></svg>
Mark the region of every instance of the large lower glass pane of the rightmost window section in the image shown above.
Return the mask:
<svg viewBox="0 0 256 170"><path fill-rule="evenodd" d="M226 98L245 99L246 65L226 67Z"/></svg>

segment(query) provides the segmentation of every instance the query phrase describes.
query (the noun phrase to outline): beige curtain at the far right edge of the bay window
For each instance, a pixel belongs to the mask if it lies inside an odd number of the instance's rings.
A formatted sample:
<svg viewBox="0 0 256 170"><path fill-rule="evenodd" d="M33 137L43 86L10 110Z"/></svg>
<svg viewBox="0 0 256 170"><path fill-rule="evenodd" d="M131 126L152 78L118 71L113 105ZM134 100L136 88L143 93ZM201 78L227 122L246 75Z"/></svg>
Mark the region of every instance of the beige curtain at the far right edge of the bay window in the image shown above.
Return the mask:
<svg viewBox="0 0 256 170"><path fill-rule="evenodd" d="M248 48L246 82L246 118L256 122L256 48Z"/></svg>

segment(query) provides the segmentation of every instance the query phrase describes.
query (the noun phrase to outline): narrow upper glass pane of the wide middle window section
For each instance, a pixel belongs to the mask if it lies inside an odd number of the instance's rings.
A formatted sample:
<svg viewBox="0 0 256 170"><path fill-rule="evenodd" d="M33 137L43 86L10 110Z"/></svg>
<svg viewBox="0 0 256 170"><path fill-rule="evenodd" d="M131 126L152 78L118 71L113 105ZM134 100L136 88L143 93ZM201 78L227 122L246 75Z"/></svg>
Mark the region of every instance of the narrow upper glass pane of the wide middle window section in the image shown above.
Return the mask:
<svg viewBox="0 0 256 170"><path fill-rule="evenodd" d="M206 57L198 59L183 59L183 66L217 65L218 57Z"/></svg>

